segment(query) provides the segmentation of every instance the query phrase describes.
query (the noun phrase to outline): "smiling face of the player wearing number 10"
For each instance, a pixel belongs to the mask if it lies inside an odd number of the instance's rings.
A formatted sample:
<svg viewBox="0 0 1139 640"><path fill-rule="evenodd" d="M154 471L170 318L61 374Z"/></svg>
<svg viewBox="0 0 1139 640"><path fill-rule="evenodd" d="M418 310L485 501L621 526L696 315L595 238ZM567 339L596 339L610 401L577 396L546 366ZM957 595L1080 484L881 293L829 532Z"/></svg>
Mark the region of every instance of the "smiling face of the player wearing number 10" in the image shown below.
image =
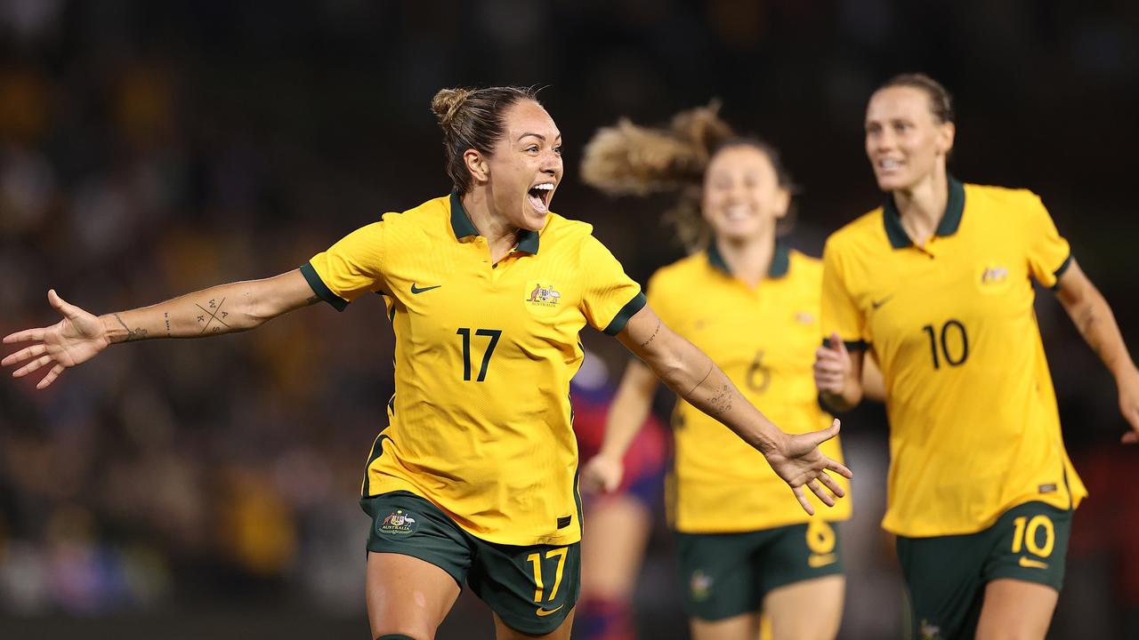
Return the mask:
<svg viewBox="0 0 1139 640"><path fill-rule="evenodd" d="M866 108L866 155L883 191L910 190L944 171L953 148L953 124L933 114L929 96L916 87L886 87Z"/></svg>

